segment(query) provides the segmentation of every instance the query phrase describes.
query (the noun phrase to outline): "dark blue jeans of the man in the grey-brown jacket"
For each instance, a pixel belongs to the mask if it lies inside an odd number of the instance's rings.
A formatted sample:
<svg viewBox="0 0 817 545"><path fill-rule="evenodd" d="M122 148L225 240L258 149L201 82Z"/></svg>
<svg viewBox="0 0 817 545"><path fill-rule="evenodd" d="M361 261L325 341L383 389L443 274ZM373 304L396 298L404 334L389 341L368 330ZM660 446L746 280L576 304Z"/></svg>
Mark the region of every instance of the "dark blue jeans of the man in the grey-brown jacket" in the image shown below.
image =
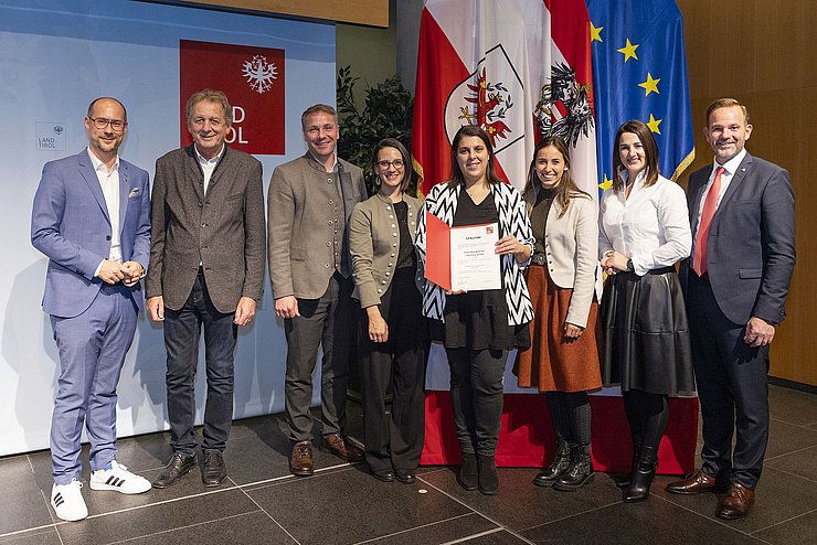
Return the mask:
<svg viewBox="0 0 817 545"><path fill-rule="evenodd" d="M208 397L204 407L202 448L223 451L233 423L233 356L238 327L234 312L224 314L210 300L204 275L199 274L193 289L179 310L165 309L165 348L168 352L168 419L173 452L195 452L195 370L199 335L204 329L204 363Z"/></svg>

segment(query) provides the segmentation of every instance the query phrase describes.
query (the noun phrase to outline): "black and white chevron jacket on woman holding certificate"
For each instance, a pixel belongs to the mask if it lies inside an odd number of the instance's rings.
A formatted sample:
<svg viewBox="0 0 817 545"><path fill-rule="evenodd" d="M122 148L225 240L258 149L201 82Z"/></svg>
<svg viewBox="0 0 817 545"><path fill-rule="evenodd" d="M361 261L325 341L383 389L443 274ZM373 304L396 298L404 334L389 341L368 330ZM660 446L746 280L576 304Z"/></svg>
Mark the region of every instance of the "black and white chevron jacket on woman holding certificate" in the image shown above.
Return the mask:
<svg viewBox="0 0 817 545"><path fill-rule="evenodd" d="M425 210L450 226L454 223L454 212L457 210L459 192L463 185L452 186L447 182L438 183L425 197ZM533 252L533 231L524 206L522 195L507 183L491 185L494 203L499 213L499 237L512 235L522 244L527 244ZM415 241L417 254L425 266L425 214L420 214L417 238ZM505 298L508 302L508 324L519 325L533 319L528 285L524 282L522 269L528 261L518 263L512 255L503 255L501 269L505 280ZM444 321L445 289L426 280L423 290L423 316Z"/></svg>

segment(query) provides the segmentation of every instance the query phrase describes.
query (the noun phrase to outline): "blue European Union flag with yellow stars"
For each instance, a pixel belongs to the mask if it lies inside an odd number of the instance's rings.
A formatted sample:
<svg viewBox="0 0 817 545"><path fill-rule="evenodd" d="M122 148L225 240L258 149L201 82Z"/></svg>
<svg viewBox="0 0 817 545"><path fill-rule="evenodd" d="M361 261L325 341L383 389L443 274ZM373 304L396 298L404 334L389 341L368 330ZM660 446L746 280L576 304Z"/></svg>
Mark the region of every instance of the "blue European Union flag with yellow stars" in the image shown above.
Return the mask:
<svg viewBox="0 0 817 545"><path fill-rule="evenodd" d="M661 174L677 180L694 159L683 20L675 0L587 0L593 44L598 186L613 177L618 127L652 130Z"/></svg>

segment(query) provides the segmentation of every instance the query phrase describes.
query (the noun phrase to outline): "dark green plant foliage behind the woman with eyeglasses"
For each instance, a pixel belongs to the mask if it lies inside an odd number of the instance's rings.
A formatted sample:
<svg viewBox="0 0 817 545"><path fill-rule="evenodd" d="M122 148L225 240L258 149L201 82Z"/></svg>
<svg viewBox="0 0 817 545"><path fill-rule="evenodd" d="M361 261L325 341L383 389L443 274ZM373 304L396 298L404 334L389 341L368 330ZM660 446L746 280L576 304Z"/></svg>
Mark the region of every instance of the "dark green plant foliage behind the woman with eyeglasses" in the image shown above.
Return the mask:
<svg viewBox="0 0 817 545"><path fill-rule="evenodd" d="M403 87L400 76L394 75L374 87L365 89L365 106L362 111L354 104L354 85L360 77L352 77L351 66L338 70L338 115L340 117L340 139L338 154L363 169L369 194L373 194L374 173L372 171L372 150L382 138L400 140L411 150L412 110L414 99ZM416 194L417 175L411 170L412 180L406 192Z"/></svg>

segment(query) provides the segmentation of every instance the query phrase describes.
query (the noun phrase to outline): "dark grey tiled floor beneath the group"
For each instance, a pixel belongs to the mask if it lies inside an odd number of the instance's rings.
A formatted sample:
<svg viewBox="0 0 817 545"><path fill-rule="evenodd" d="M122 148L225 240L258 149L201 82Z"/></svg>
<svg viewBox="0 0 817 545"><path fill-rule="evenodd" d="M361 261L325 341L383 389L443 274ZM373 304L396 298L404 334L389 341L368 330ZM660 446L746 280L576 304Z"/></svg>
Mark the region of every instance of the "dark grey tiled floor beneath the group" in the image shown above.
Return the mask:
<svg viewBox="0 0 817 545"><path fill-rule="evenodd" d="M311 478L287 470L278 416L238 421L225 453L230 478L205 490L195 473L167 490L125 496L83 490L91 516L57 522L47 501L47 451L0 459L0 544L513 544L815 543L817 396L771 387L772 430L757 502L742 521L714 517L718 496L675 496L656 479L643 504L624 504L613 479L573 493L531 484L535 470L500 469L495 496L460 489L449 468L423 468L414 485L382 483L316 449ZM360 409L350 407L352 435ZM119 460L152 479L168 436L119 441ZM87 483L87 475L83 475Z"/></svg>

